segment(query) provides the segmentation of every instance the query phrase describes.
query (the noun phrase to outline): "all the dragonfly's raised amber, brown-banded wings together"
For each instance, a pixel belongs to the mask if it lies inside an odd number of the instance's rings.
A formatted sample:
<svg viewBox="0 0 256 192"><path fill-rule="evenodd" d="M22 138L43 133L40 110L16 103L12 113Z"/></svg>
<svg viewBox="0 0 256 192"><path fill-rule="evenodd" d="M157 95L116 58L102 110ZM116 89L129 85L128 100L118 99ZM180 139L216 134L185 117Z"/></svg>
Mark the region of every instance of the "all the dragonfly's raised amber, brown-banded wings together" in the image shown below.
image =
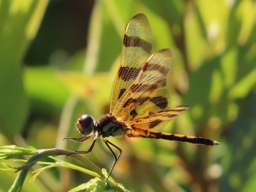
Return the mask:
<svg viewBox="0 0 256 192"><path fill-rule="evenodd" d="M171 69L171 50L163 49L154 54L151 50L149 22L146 15L137 14L125 28L110 113L129 127L158 131L189 107L170 107L165 83Z"/></svg>

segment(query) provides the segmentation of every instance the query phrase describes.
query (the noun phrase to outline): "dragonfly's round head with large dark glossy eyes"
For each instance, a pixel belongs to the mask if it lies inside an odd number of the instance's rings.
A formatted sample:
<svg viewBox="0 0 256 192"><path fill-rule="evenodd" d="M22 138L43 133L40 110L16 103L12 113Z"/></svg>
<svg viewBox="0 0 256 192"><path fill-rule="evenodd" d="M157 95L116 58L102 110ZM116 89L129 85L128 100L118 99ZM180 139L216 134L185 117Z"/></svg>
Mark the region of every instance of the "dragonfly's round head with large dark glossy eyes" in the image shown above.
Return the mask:
<svg viewBox="0 0 256 192"><path fill-rule="evenodd" d="M83 135L89 135L94 130L94 119L90 115L83 115L77 119L77 130Z"/></svg>

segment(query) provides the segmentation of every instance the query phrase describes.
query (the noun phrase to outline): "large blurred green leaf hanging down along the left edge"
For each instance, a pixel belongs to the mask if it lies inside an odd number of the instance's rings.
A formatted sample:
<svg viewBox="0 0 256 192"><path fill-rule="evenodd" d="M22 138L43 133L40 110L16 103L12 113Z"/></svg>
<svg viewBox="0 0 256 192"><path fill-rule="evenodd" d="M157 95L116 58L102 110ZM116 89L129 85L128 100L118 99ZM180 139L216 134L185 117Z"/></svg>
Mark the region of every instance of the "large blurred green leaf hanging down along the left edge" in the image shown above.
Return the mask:
<svg viewBox="0 0 256 192"><path fill-rule="evenodd" d="M21 64L47 3L41 0L0 4L0 126L1 132L9 138L21 132L27 118L28 99L23 90Z"/></svg>

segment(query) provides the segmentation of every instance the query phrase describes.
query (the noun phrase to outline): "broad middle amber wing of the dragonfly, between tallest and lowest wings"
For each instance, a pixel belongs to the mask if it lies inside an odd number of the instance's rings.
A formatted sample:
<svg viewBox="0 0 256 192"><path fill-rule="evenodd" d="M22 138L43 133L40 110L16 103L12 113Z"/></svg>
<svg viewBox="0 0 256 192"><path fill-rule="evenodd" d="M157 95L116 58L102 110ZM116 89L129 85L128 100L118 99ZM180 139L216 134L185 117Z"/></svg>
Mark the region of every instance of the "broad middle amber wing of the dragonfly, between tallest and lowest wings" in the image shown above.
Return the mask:
<svg viewBox="0 0 256 192"><path fill-rule="evenodd" d="M152 54L143 64L134 82L119 98L113 115L123 121L130 121L135 114L145 111L159 111L169 106L169 94L165 87L166 77L171 69L172 52L163 49ZM147 110L145 110L147 109Z"/></svg>

